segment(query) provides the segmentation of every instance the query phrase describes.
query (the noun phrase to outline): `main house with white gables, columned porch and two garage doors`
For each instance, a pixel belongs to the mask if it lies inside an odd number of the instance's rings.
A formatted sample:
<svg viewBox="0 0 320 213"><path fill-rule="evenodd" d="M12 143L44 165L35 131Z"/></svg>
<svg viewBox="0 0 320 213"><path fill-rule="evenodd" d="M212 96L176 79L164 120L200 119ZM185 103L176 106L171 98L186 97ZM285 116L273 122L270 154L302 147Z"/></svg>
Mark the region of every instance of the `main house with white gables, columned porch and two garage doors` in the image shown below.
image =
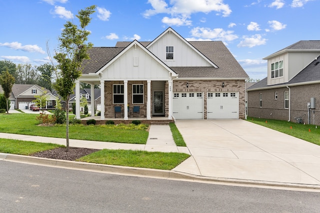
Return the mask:
<svg viewBox="0 0 320 213"><path fill-rule="evenodd" d="M88 53L75 96L80 82L100 85L101 120L114 118L115 106L124 120L133 106L147 120L245 117L248 75L221 41L188 42L169 27L151 42L117 42ZM79 99L75 102L80 118Z"/></svg>

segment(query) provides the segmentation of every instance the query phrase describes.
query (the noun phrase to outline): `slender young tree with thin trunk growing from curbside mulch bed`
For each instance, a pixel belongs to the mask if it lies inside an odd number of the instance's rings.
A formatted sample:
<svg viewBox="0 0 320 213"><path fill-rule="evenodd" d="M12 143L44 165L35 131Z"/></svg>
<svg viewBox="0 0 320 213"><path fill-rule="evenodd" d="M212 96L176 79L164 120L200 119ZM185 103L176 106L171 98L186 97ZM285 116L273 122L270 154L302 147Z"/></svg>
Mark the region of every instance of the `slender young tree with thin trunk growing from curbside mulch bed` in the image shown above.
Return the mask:
<svg viewBox="0 0 320 213"><path fill-rule="evenodd" d="M58 50L53 56L58 63L54 88L65 101L66 151L69 151L69 99L73 93L75 80L81 75L81 62L89 58L86 50L93 46L90 42L86 43L90 31L85 27L90 23L90 15L94 9L95 5L92 5L78 11L76 17L80 21L79 27L70 21L64 24L64 29L58 37Z"/></svg>

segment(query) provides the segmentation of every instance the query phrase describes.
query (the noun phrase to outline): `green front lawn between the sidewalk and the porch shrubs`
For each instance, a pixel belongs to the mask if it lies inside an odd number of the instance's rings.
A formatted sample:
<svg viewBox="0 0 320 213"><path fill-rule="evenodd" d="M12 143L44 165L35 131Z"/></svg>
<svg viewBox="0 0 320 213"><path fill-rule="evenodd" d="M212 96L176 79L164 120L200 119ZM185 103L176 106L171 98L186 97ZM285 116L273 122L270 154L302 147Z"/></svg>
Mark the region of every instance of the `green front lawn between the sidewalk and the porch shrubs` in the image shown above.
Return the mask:
<svg viewBox="0 0 320 213"><path fill-rule="evenodd" d="M0 132L22 135L35 135L65 138L65 125L37 126L37 114L15 113L0 114ZM83 126L70 125L69 138L90 141L145 144L148 132L145 130L128 130L106 125Z"/></svg>

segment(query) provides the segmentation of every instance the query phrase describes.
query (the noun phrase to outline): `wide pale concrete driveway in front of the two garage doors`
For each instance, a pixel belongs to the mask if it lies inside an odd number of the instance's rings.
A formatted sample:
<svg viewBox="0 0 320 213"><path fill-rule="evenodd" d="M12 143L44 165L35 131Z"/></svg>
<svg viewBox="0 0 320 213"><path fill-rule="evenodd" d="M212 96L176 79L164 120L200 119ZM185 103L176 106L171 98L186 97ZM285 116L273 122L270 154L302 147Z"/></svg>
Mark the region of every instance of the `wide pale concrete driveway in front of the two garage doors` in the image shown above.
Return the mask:
<svg viewBox="0 0 320 213"><path fill-rule="evenodd" d="M244 120L177 120L176 126L192 156L174 171L320 185L320 146Z"/></svg>

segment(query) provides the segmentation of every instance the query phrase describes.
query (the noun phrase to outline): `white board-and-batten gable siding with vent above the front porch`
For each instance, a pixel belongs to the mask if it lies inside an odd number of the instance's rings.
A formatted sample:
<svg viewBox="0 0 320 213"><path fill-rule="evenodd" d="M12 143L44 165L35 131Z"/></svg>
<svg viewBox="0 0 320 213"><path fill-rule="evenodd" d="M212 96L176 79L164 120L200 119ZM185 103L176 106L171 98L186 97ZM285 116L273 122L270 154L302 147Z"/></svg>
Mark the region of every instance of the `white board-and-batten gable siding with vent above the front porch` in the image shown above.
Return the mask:
<svg viewBox="0 0 320 213"><path fill-rule="evenodd" d="M139 46L132 46L102 71L107 79L168 79L170 73Z"/></svg>

